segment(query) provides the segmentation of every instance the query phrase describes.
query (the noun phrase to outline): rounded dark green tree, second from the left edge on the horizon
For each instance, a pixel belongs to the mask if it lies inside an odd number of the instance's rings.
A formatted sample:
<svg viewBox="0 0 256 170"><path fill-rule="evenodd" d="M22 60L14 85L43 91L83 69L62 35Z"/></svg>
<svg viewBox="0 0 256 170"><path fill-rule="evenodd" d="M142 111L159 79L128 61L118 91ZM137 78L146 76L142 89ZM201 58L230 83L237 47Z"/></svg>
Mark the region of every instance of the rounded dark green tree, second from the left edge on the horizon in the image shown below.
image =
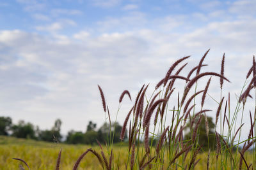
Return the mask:
<svg viewBox="0 0 256 170"><path fill-rule="evenodd" d="M31 123L25 123L23 120L20 120L19 124L12 126L12 136L36 139L35 128Z"/></svg>

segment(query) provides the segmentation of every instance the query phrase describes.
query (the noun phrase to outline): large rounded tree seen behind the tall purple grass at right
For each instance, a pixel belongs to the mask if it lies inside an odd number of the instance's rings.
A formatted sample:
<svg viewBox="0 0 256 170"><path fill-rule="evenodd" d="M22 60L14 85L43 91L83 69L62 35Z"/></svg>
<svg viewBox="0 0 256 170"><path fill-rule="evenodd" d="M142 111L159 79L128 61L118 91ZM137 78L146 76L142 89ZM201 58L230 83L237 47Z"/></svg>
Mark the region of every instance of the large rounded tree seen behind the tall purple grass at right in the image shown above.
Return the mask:
<svg viewBox="0 0 256 170"><path fill-rule="evenodd" d="M191 120L193 120L193 117L191 117ZM191 127L191 120L186 124L186 129L190 129ZM199 117L195 118L195 122L193 123L192 128L195 129L195 125L197 124L199 120ZM205 126L205 116L202 115L202 119L200 122L200 125L198 127L198 133L199 133L199 139L198 139L198 144L206 149L206 148L211 148L214 149L216 148L216 137L215 137L215 124L212 121L212 117L207 117L208 120L208 126L209 126L209 139L207 138L206 134L206 126ZM189 141L192 138L193 132L190 132L190 130L185 134L184 139L185 141Z"/></svg>

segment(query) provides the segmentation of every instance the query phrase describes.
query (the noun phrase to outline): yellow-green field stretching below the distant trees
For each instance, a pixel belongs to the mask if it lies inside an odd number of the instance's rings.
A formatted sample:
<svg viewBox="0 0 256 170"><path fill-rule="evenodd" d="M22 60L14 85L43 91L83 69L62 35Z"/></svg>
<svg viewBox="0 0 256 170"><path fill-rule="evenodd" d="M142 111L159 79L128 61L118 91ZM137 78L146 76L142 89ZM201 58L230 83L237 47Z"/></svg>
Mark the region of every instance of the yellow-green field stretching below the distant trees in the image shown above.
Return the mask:
<svg viewBox="0 0 256 170"><path fill-rule="evenodd" d="M12 158L26 160L31 169L55 169L56 159L61 148L60 169L72 169L77 158L91 147L100 151L99 146L65 145L0 136L0 169L19 169L21 162L13 160ZM122 165L120 169L125 169L125 161L128 157L127 147L113 146L113 152L115 155L114 164L118 161L119 151L120 165ZM105 152L107 153L106 148ZM246 159L250 163L252 162L251 156L252 155L250 154L246 155ZM196 165L196 169L205 169L207 153L200 153L197 159L200 159L200 161ZM237 159L239 159L239 157L237 157ZM216 169L214 154L211 155L210 166L210 169ZM101 167L98 164L98 160L92 155L92 153L88 153L88 155L86 155L81 161L79 169L101 169ZM229 168L227 167L227 169Z"/></svg>

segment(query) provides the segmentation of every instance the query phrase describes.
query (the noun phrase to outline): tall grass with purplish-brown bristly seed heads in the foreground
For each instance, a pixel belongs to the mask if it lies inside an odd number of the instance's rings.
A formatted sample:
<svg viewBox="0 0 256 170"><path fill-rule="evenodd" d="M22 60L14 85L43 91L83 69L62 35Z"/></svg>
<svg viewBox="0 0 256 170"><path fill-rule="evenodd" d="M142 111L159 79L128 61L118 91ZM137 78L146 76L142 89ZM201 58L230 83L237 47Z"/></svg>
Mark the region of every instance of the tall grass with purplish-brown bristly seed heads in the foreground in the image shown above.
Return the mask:
<svg viewBox="0 0 256 170"><path fill-rule="evenodd" d="M207 64L204 64L204 59L207 57L208 52L209 50L205 52L198 66L193 67L189 71L188 76L180 76L180 72L188 63L181 67L179 66L190 56L183 57L174 62L164 78L157 83L156 89L150 96L146 95L148 85L141 87L133 106L131 106L131 110L127 113L120 136L120 139L123 141L125 131L128 131L127 157L122 157L123 153L121 150L113 147L113 133L115 133L115 130L109 129L108 141L105 144L107 150L104 150L100 143L100 150L88 148L77 158L73 169L76 170L83 159L90 159L90 157L86 157L88 153L92 153L97 158L102 169L109 170L121 169L121 167L122 169L124 167L125 169L197 169L198 165L204 166L204 169L255 169L255 59L253 57L252 67L249 68L243 89L237 98L236 106L230 106L230 94L228 93L228 97L223 96L225 94L223 86L225 86L226 82L230 82L224 73L225 54L220 64L220 73L216 70L200 73L201 68L207 66ZM175 69L177 71L173 73ZM205 88L199 89L198 87L204 83L201 79L205 76L210 76L210 78L205 84ZM218 108L213 110L216 111L215 124L219 127L220 131L215 130L216 149L205 150L199 143L200 122L203 118L205 119L205 133L207 134L209 145L211 141L209 141L206 113L211 110L204 108L204 103L205 97L211 97L209 85L213 79L220 80L220 100L214 99L218 103ZM184 89L178 93L178 99L173 93L175 90L180 89L175 89L176 80L184 81ZM105 101L103 90L100 86L98 87L106 120L111 124L111 113L109 113L108 104ZM253 89L254 95L252 97L250 92ZM200 94L202 94L202 97L198 100ZM122 103L125 95L131 99L129 91L124 90L120 96L119 103ZM242 140L243 115L246 114L244 113L244 108L248 97L252 97L255 100L255 105L252 109L254 114L250 111L248 139ZM174 100L177 101L173 102ZM117 112L119 110L120 105ZM240 112L242 112L242 117L241 120L238 120ZM169 115L171 115L171 119L168 118ZM190 122L189 131L191 136L185 140L184 129L188 121ZM111 125L109 128L111 128ZM227 133L225 133L224 129L228 129ZM157 143L154 145L154 140L156 139ZM121 142L120 146L123 145L124 142ZM241 150L238 147L240 145L243 146ZM252 148L252 154L250 154L252 159L248 159L246 154L250 148ZM207 156L202 158L200 152L207 152ZM60 158L61 152L58 155L56 169L60 167ZM24 160L20 161L24 162ZM125 166L123 165L124 162Z"/></svg>

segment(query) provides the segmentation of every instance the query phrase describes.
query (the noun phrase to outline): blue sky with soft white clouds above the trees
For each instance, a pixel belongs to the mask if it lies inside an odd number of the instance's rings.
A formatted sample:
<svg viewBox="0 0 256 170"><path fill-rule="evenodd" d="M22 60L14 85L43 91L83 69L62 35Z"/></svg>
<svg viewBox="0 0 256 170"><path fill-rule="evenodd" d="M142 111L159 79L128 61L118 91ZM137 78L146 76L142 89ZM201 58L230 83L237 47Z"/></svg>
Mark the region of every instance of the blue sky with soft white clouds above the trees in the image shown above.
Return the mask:
<svg viewBox="0 0 256 170"><path fill-rule="evenodd" d="M223 91L235 103L255 55L255 9L249 0L2 0L0 116L40 129L60 118L63 134L86 131L90 120L100 127L99 84L112 120L120 94L131 92L132 102L126 97L118 111L122 124L144 83L150 83L150 96L175 60L191 55L185 75L209 48L209 66L202 70L220 73L225 53L232 83L225 82ZM220 99L220 81L212 80L212 96ZM215 117L218 105L209 96L206 106L214 106L209 116ZM252 102L247 107L253 110Z"/></svg>

